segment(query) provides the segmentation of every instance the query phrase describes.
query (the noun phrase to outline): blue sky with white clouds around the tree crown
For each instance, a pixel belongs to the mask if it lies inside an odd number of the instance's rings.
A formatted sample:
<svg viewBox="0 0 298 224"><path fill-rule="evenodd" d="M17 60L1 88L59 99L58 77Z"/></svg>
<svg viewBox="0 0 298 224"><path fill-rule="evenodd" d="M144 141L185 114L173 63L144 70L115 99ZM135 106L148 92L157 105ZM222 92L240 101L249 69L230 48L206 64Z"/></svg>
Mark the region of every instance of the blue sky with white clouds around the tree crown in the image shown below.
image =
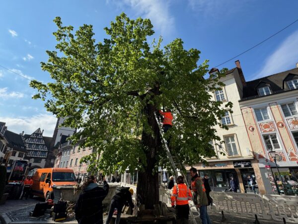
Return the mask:
<svg viewBox="0 0 298 224"><path fill-rule="evenodd" d="M201 51L210 68L234 57L298 19L297 0L14 0L0 7L0 65L29 79L50 81L40 62L53 50L53 19L65 25L92 24L97 41L116 15L151 19L155 37L166 44L182 38L186 48ZM257 48L219 68L234 68L240 60L246 80L295 67L298 62L298 22ZM43 102L32 100L28 80L0 67L0 121L15 132L38 127L51 136L56 118Z"/></svg>

